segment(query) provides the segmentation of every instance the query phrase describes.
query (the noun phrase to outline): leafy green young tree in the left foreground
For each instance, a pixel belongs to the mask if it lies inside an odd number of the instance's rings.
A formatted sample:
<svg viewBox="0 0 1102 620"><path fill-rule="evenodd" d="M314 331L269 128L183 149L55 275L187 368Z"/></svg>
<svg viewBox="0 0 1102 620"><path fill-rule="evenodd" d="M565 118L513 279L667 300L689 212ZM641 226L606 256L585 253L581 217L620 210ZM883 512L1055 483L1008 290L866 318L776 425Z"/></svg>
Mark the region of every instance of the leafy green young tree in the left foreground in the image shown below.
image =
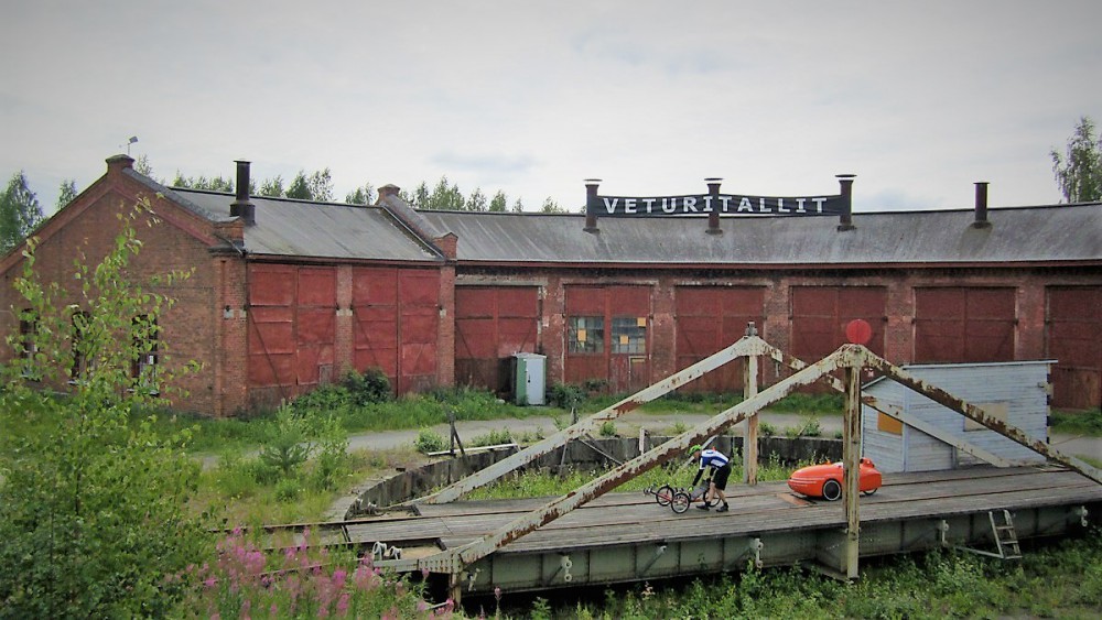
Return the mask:
<svg viewBox="0 0 1102 620"><path fill-rule="evenodd" d="M183 594L166 577L210 552L206 524L184 509L198 476L181 450L186 433L163 439L151 417L130 422L161 404L171 384L171 372L132 369L172 305L164 292L188 275L128 276L145 209L120 216L121 232L97 265L76 261L65 280L75 291L39 281L33 239L12 283L20 318L34 330L8 338L19 361L0 368L2 617L164 617ZM29 366L44 384L68 381L69 393L32 389Z"/></svg>

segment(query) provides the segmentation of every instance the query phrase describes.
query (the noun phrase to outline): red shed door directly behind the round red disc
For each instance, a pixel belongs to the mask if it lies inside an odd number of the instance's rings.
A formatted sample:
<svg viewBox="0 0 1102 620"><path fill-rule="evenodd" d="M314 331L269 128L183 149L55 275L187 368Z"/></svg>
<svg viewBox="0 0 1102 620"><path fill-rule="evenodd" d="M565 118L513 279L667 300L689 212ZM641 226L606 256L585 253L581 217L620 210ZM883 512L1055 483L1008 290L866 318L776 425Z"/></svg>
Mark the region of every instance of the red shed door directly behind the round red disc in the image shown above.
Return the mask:
<svg viewBox="0 0 1102 620"><path fill-rule="evenodd" d="M793 286L791 295L793 356L808 363L829 356L846 342L845 326L856 318L873 328L865 346L884 355L885 287Z"/></svg>

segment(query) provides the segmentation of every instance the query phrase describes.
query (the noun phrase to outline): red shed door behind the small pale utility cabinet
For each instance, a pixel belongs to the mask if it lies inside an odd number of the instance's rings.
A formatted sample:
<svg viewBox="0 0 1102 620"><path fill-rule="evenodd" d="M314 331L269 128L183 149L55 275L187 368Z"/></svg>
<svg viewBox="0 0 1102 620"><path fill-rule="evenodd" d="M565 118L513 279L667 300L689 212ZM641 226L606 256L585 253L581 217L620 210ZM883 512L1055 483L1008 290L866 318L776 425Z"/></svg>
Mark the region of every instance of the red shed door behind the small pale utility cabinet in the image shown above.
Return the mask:
<svg viewBox="0 0 1102 620"><path fill-rule="evenodd" d="M537 352L539 287L455 287L455 382L509 391L514 353Z"/></svg>

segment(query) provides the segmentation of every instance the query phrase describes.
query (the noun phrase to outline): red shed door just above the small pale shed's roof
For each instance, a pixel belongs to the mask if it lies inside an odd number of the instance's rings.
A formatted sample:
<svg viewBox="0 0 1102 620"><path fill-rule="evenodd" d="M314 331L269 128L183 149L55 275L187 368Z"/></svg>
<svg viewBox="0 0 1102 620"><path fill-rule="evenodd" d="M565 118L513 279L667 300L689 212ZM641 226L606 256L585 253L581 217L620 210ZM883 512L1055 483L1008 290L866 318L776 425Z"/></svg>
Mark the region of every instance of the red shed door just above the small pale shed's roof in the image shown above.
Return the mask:
<svg viewBox="0 0 1102 620"><path fill-rule="evenodd" d="M915 290L915 361L1013 361L1015 290Z"/></svg>

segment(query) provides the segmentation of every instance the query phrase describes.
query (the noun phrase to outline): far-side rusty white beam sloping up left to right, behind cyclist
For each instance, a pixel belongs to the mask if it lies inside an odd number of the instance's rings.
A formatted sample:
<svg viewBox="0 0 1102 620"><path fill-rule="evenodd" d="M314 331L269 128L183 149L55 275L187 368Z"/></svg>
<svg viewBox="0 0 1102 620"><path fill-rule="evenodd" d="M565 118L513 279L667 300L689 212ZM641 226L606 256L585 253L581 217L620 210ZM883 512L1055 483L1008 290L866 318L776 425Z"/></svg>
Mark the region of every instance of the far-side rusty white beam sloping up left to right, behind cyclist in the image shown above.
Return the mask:
<svg viewBox="0 0 1102 620"><path fill-rule="evenodd" d="M571 439L579 439L587 435L592 435L595 431L599 429L601 425L605 422L616 420L625 413L638 409L639 405L671 392L690 381L694 381L734 359L743 356L764 353L765 349L763 349L763 345L765 344L765 340L757 337L743 337L730 347L712 353L684 370L671 374L662 381L645 388L639 392L619 401L618 403L613 404L585 420L581 420L576 424L564 428L541 442L532 444L508 458L499 460L498 463L476 471L462 480L457 480L435 493L418 498L413 500L412 503L447 503L450 501L454 501L463 497L465 493L488 485L501 476L505 476L519 467L523 467L537 458L564 446Z"/></svg>

